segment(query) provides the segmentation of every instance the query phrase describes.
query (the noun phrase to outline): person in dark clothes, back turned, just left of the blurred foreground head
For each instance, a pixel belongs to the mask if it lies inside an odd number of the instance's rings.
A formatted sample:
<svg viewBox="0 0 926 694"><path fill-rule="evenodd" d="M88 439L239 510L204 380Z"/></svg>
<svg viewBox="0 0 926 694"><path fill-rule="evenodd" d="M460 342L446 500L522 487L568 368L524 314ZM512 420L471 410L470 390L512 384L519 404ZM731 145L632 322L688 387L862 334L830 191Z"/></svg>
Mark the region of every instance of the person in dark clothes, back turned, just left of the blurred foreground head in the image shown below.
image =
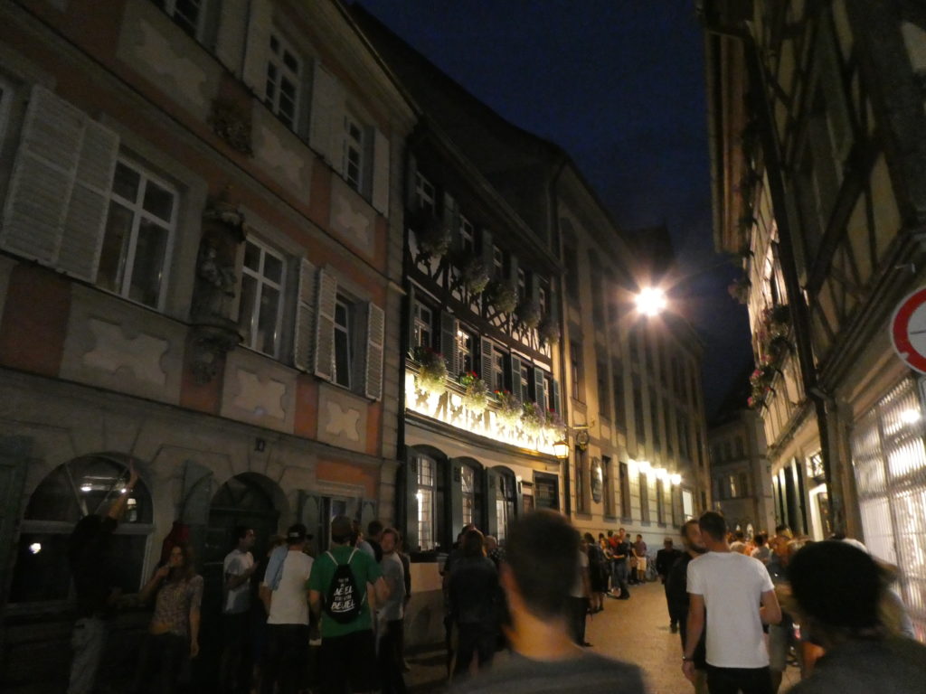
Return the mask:
<svg viewBox="0 0 926 694"><path fill-rule="evenodd" d="M485 556L482 533L470 528L460 542L460 556L448 582L450 613L457 626L454 676L469 672L473 657L480 669L492 662L498 628L498 571Z"/></svg>

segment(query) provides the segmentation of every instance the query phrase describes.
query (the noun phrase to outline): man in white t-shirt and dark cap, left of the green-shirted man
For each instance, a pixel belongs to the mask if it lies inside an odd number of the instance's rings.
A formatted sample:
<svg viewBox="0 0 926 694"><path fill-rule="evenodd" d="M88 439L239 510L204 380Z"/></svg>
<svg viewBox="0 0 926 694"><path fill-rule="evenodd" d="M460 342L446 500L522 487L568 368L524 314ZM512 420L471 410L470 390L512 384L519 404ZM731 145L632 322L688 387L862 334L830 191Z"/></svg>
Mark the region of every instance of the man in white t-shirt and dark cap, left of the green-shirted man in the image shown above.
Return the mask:
<svg viewBox="0 0 926 694"><path fill-rule="evenodd" d="M286 531L286 556L274 576L265 576L261 591L269 597L267 647L261 691L296 694L305 688L308 658L308 576L312 558L306 551L306 527L296 523ZM268 572L269 573L269 572ZM276 575L279 574L279 575ZM275 588L274 588L275 586Z"/></svg>

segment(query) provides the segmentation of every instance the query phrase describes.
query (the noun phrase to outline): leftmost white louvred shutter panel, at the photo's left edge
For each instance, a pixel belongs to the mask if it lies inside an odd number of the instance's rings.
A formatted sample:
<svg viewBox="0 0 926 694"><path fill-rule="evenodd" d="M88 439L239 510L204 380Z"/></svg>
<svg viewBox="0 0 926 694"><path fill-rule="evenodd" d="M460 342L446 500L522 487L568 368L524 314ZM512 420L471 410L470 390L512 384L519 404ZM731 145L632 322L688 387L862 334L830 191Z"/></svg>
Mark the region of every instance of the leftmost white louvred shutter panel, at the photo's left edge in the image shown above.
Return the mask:
<svg viewBox="0 0 926 694"><path fill-rule="evenodd" d="M0 229L7 251L56 263L86 121L54 93L32 88Z"/></svg>

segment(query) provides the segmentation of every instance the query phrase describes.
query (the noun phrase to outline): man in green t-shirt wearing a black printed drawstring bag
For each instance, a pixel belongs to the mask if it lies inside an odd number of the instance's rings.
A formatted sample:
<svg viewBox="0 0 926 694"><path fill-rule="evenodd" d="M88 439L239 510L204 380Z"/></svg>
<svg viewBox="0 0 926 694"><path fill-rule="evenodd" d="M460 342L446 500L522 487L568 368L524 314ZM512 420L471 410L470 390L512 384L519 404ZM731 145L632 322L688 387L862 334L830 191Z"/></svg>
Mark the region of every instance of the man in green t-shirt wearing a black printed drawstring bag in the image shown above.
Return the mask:
<svg viewBox="0 0 926 694"><path fill-rule="evenodd" d="M378 688L376 668L370 667L376 662L376 647L369 598L382 603L389 597L389 588L380 565L366 552L350 546L352 529L346 516L332 519L332 547L319 555L308 577L309 604L314 613L321 614L319 663L323 694L342 694L348 686L356 693ZM356 591L351 601L358 609L349 621L334 616L342 602L332 605L332 581L344 573L339 572L339 565L350 567Z"/></svg>

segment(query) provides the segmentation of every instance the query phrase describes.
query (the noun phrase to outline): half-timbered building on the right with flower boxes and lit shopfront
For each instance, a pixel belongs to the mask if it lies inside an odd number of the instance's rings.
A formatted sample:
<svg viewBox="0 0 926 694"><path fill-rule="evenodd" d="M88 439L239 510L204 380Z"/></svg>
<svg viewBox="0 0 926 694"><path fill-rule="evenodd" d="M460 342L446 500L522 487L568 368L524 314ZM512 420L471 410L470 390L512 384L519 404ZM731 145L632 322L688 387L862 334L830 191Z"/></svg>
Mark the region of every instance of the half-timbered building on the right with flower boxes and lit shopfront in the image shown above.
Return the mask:
<svg viewBox="0 0 926 694"><path fill-rule="evenodd" d="M704 0L715 245L738 254L779 522L900 568L926 638L922 378L897 304L926 280L926 15L904 0Z"/></svg>

